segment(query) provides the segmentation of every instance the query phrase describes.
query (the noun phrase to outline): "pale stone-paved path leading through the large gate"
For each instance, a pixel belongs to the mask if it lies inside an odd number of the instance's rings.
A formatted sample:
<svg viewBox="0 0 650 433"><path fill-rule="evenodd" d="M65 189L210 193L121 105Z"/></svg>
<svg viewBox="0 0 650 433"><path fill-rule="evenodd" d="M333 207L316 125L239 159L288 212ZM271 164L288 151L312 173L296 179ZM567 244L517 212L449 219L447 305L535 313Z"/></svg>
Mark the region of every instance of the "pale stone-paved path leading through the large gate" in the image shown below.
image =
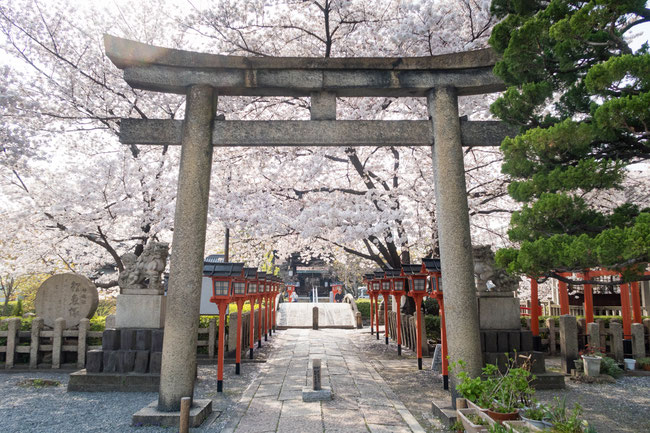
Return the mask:
<svg viewBox="0 0 650 433"><path fill-rule="evenodd" d="M237 404L238 416L224 431L424 432L350 335L336 329L276 334L273 352ZM322 361L322 382L332 388L332 401L302 401L303 387L311 385L314 358Z"/></svg>

